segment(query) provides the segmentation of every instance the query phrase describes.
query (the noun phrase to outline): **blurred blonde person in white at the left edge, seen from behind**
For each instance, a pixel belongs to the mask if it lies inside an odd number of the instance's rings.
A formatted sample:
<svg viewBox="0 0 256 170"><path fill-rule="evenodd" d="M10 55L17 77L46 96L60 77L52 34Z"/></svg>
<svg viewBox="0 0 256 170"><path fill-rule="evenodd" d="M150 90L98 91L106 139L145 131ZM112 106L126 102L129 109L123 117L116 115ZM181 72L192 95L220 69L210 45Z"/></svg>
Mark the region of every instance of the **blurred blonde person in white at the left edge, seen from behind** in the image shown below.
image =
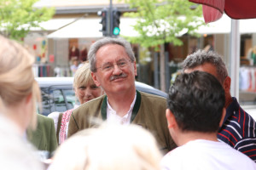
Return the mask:
<svg viewBox="0 0 256 170"><path fill-rule="evenodd" d="M0 160L1 169L40 170L42 165L26 128L37 125L40 89L34 79L34 57L17 42L0 37Z"/></svg>

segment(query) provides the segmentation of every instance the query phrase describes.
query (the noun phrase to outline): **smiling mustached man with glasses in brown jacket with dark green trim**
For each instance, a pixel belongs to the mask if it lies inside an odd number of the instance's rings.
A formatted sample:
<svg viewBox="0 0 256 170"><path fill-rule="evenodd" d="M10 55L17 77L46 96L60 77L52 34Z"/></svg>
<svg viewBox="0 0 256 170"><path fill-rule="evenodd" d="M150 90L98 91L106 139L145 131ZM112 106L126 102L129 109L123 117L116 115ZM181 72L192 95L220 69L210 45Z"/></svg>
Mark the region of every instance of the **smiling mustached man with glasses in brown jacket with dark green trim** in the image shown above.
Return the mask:
<svg viewBox="0 0 256 170"><path fill-rule="evenodd" d="M166 99L136 90L137 66L131 44L122 38L104 37L91 45L88 58L93 80L106 95L73 111L68 137L84 128L99 126L103 120L148 129L163 153L176 147L165 119Z"/></svg>

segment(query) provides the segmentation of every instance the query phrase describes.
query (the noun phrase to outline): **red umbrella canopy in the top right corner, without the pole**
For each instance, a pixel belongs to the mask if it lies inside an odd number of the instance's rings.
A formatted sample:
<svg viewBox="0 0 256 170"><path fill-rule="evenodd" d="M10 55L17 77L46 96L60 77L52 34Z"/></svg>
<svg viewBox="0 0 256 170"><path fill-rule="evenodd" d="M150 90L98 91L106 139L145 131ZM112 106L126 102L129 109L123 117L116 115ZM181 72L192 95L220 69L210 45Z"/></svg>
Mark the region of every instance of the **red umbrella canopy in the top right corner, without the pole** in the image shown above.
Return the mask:
<svg viewBox="0 0 256 170"><path fill-rule="evenodd" d="M255 0L189 0L203 5L205 22L218 20L222 14L229 15L232 19L256 18Z"/></svg>

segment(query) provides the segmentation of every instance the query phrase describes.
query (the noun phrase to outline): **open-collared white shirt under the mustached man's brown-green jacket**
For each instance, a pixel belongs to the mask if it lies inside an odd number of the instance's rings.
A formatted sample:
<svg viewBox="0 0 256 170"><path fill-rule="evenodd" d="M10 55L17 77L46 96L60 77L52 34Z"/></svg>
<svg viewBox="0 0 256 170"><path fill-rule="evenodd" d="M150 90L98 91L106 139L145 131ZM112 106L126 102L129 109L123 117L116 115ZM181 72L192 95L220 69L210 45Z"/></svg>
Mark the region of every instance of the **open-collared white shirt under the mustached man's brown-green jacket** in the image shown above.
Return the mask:
<svg viewBox="0 0 256 170"><path fill-rule="evenodd" d="M117 115L116 111L113 110L113 108L111 107L111 105L109 105L108 100L107 100L107 104L108 104L108 106L107 106L107 122L117 123L117 124L121 124L121 125L129 125L131 122L131 113L132 113L133 107L135 105L136 97L137 97L137 93L135 93L134 99L130 106L130 110L123 117L120 117Z"/></svg>

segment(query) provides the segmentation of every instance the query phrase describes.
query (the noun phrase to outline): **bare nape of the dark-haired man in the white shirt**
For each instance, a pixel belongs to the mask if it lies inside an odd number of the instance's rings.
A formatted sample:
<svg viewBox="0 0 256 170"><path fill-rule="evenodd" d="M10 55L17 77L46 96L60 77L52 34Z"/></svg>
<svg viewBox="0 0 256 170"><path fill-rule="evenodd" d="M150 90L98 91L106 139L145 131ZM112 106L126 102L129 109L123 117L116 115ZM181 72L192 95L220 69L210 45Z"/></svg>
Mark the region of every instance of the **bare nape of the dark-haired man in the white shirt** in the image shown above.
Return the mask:
<svg viewBox="0 0 256 170"><path fill-rule="evenodd" d="M177 135L176 143L178 146L188 143L189 141L196 139L205 139L211 141L218 141L217 133L199 133L199 132L187 132Z"/></svg>

